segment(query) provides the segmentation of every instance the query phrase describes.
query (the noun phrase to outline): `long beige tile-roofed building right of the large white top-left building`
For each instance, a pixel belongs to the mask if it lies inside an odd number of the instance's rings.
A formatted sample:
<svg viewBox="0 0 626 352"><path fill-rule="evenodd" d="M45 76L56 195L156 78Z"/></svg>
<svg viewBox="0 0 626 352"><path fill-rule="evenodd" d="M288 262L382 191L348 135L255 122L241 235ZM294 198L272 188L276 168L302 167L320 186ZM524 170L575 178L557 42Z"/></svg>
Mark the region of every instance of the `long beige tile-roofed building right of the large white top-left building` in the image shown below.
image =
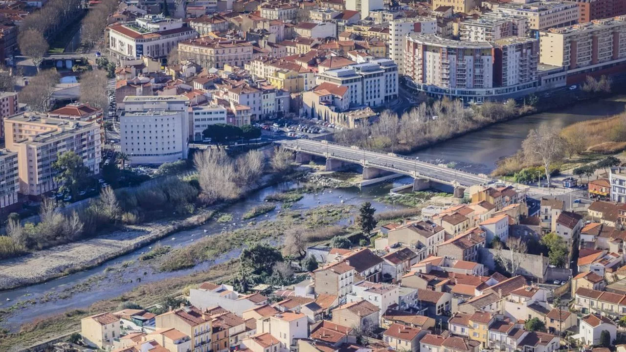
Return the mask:
<svg viewBox="0 0 626 352"><path fill-rule="evenodd" d="M252 43L210 37L190 39L178 43L178 56L180 60L191 60L205 68L243 67L252 60Z"/></svg>

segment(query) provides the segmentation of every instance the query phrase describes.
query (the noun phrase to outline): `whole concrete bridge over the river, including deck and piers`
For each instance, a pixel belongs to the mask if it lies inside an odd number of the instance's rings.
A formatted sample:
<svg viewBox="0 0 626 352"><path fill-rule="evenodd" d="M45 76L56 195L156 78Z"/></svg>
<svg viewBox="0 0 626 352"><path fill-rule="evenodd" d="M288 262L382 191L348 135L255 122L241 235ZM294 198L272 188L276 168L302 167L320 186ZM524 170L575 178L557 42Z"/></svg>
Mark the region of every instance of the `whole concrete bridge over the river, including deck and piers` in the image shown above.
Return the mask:
<svg viewBox="0 0 626 352"><path fill-rule="evenodd" d="M326 158L326 170L340 170L350 164L363 167L363 179L370 180L390 173L401 173L414 178L413 190L429 188L452 190L456 197L463 197L466 187L490 184L495 180L487 175L476 175L421 162L414 158L394 153L379 153L357 147L345 147L336 143L319 140L280 140L277 144L296 152L297 162L309 162L313 156Z"/></svg>

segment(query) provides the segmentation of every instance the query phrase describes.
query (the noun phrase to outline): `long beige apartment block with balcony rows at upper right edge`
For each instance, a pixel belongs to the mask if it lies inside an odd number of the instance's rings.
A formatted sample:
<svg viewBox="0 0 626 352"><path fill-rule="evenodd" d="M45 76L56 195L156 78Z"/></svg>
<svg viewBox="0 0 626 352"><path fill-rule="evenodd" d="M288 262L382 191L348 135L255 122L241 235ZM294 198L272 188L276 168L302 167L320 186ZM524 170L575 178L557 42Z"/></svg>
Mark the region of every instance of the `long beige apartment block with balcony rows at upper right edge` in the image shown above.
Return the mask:
<svg viewBox="0 0 626 352"><path fill-rule="evenodd" d="M552 28L540 33L540 43L540 62L546 65L585 72L615 66L626 59L626 16Z"/></svg>

